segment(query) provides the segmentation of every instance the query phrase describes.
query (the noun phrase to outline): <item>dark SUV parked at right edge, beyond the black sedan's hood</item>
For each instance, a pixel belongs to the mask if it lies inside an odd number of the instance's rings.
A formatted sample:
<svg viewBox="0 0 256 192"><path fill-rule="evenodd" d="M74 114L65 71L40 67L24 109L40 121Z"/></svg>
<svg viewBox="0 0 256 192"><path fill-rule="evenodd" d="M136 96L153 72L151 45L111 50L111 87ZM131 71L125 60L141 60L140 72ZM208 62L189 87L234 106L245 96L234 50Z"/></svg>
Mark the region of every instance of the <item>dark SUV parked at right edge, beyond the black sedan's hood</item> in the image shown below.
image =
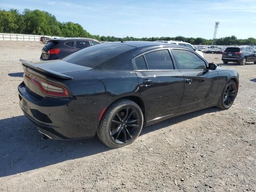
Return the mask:
<svg viewBox="0 0 256 192"><path fill-rule="evenodd" d="M256 51L249 47L228 47L222 54L221 60L224 64L228 62L237 62L245 65L246 62L254 62L256 64Z"/></svg>

